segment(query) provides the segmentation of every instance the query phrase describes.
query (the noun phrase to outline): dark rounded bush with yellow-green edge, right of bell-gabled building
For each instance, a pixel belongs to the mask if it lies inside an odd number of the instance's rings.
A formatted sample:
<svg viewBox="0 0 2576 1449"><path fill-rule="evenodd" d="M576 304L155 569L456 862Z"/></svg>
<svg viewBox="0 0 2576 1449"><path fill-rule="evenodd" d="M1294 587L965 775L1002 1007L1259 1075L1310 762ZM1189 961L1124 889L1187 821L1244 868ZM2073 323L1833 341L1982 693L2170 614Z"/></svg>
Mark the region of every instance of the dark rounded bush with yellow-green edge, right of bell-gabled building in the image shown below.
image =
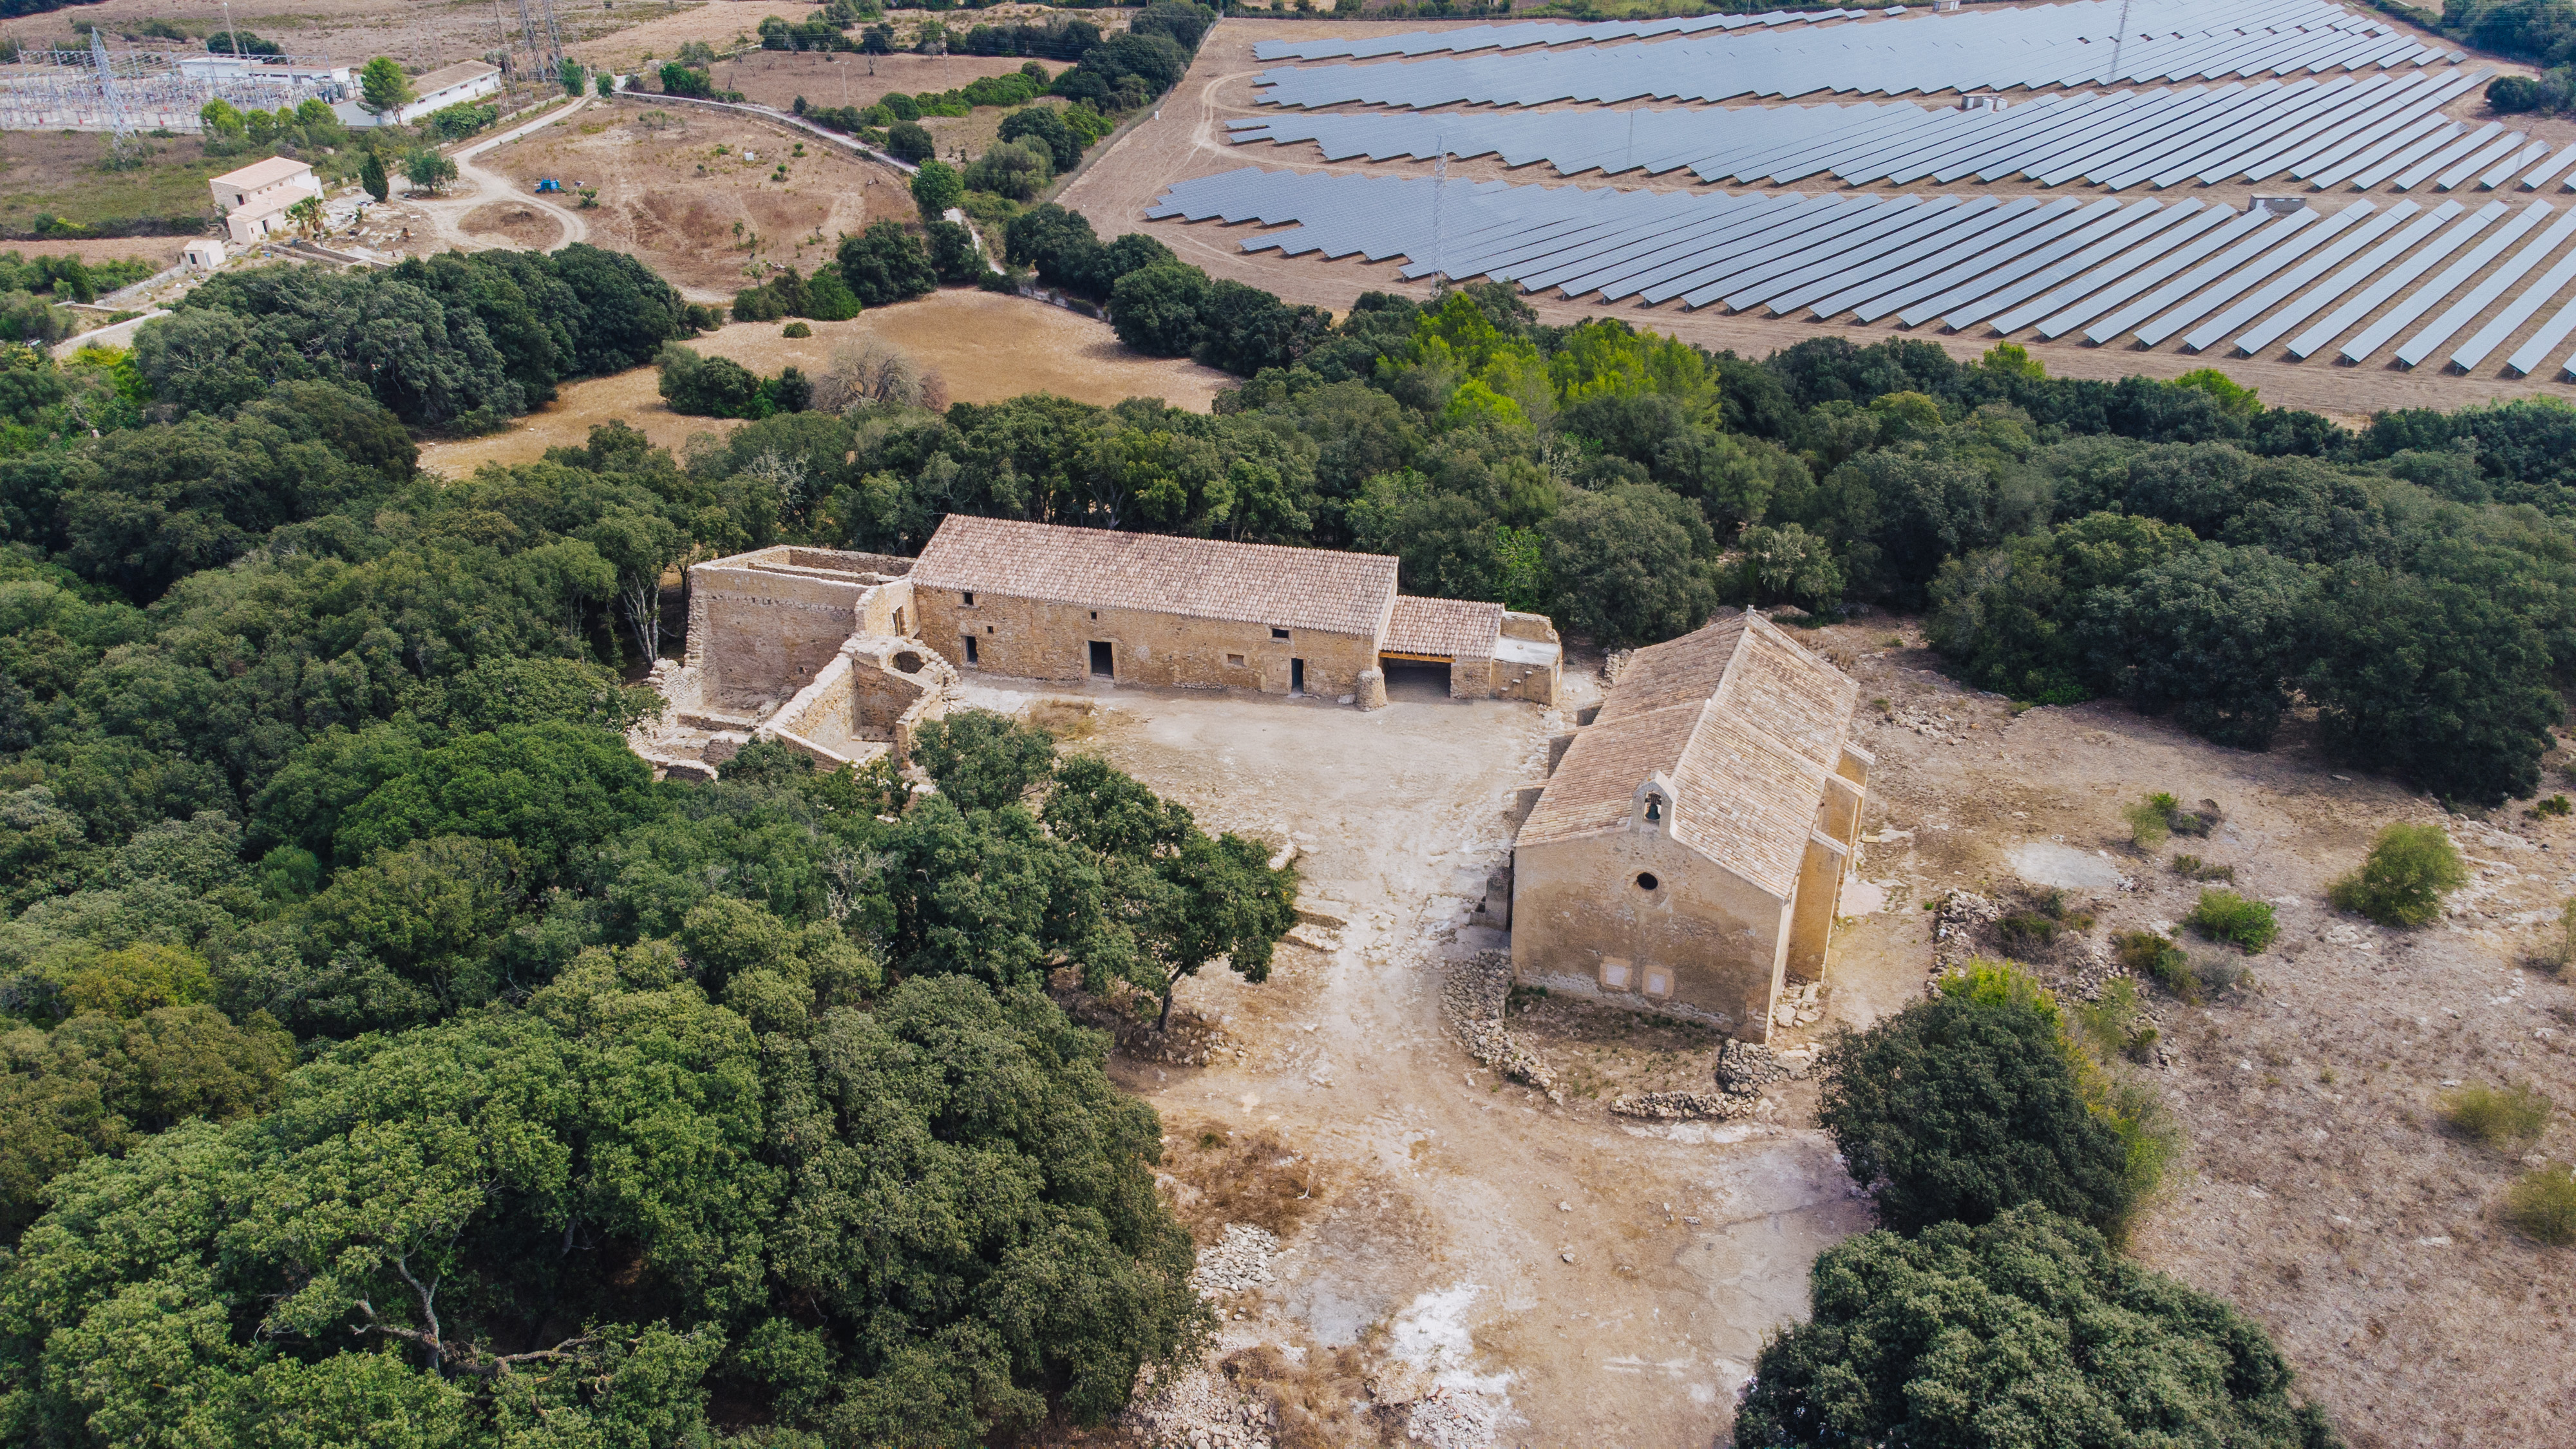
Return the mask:
<svg viewBox="0 0 2576 1449"><path fill-rule="evenodd" d="M1819 1122L1878 1222L1919 1232L2025 1201L2117 1230L2172 1150L2027 975L1976 962L1824 1055Z"/></svg>

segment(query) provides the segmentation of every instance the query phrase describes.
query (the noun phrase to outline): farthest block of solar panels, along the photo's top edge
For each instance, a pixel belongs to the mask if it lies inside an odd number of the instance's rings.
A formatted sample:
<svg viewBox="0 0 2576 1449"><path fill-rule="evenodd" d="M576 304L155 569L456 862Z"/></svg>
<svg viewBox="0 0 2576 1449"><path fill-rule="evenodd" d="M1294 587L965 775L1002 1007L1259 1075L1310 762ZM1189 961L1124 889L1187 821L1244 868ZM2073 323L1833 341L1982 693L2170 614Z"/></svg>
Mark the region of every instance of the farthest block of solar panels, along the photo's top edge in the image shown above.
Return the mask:
<svg viewBox="0 0 2576 1449"><path fill-rule="evenodd" d="M2460 59L2460 52L2424 46L2321 0L2143 3L2133 8L2130 34L2115 36L2117 15L2117 0L2087 0L1618 46L1265 70L1257 85L1273 106L1427 108L2154 85Z"/></svg>

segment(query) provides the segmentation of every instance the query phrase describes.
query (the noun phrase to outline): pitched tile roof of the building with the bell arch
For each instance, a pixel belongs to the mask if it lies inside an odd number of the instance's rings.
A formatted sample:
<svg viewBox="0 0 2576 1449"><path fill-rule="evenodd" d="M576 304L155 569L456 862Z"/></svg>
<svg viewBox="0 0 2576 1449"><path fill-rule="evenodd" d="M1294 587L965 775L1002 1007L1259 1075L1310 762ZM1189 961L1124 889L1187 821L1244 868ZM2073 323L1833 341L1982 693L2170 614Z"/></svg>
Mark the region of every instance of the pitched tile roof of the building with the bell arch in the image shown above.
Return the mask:
<svg viewBox="0 0 2576 1449"><path fill-rule="evenodd" d="M1520 841L1625 830L1636 786L1664 771L1672 838L1788 900L1857 696L1842 670L1757 614L1638 650Z"/></svg>

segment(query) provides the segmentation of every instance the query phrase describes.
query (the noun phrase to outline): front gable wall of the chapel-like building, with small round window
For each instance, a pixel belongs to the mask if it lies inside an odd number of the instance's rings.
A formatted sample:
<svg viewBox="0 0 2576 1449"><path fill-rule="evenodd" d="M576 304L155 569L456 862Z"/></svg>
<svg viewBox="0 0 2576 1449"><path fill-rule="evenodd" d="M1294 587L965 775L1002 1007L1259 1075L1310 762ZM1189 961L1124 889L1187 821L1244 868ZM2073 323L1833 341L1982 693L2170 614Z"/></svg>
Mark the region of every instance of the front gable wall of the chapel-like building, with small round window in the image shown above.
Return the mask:
<svg viewBox="0 0 2576 1449"><path fill-rule="evenodd" d="M1636 877L1656 877L1641 890ZM1669 841L1615 830L1512 851L1512 980L1770 1039L1790 902ZM1602 985L1625 962L1628 987ZM1649 972L1672 995L1649 995Z"/></svg>

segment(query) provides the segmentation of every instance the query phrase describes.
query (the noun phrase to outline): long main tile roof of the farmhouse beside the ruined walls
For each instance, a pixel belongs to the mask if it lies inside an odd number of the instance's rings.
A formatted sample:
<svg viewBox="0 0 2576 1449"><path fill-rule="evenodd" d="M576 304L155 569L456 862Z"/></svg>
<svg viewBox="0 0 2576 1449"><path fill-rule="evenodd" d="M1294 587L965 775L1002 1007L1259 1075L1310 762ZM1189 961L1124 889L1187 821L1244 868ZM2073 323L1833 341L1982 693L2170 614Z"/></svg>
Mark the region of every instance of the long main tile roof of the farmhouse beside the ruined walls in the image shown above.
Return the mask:
<svg viewBox="0 0 2576 1449"><path fill-rule="evenodd" d="M1396 559L951 513L912 583L1378 639L1396 603Z"/></svg>

